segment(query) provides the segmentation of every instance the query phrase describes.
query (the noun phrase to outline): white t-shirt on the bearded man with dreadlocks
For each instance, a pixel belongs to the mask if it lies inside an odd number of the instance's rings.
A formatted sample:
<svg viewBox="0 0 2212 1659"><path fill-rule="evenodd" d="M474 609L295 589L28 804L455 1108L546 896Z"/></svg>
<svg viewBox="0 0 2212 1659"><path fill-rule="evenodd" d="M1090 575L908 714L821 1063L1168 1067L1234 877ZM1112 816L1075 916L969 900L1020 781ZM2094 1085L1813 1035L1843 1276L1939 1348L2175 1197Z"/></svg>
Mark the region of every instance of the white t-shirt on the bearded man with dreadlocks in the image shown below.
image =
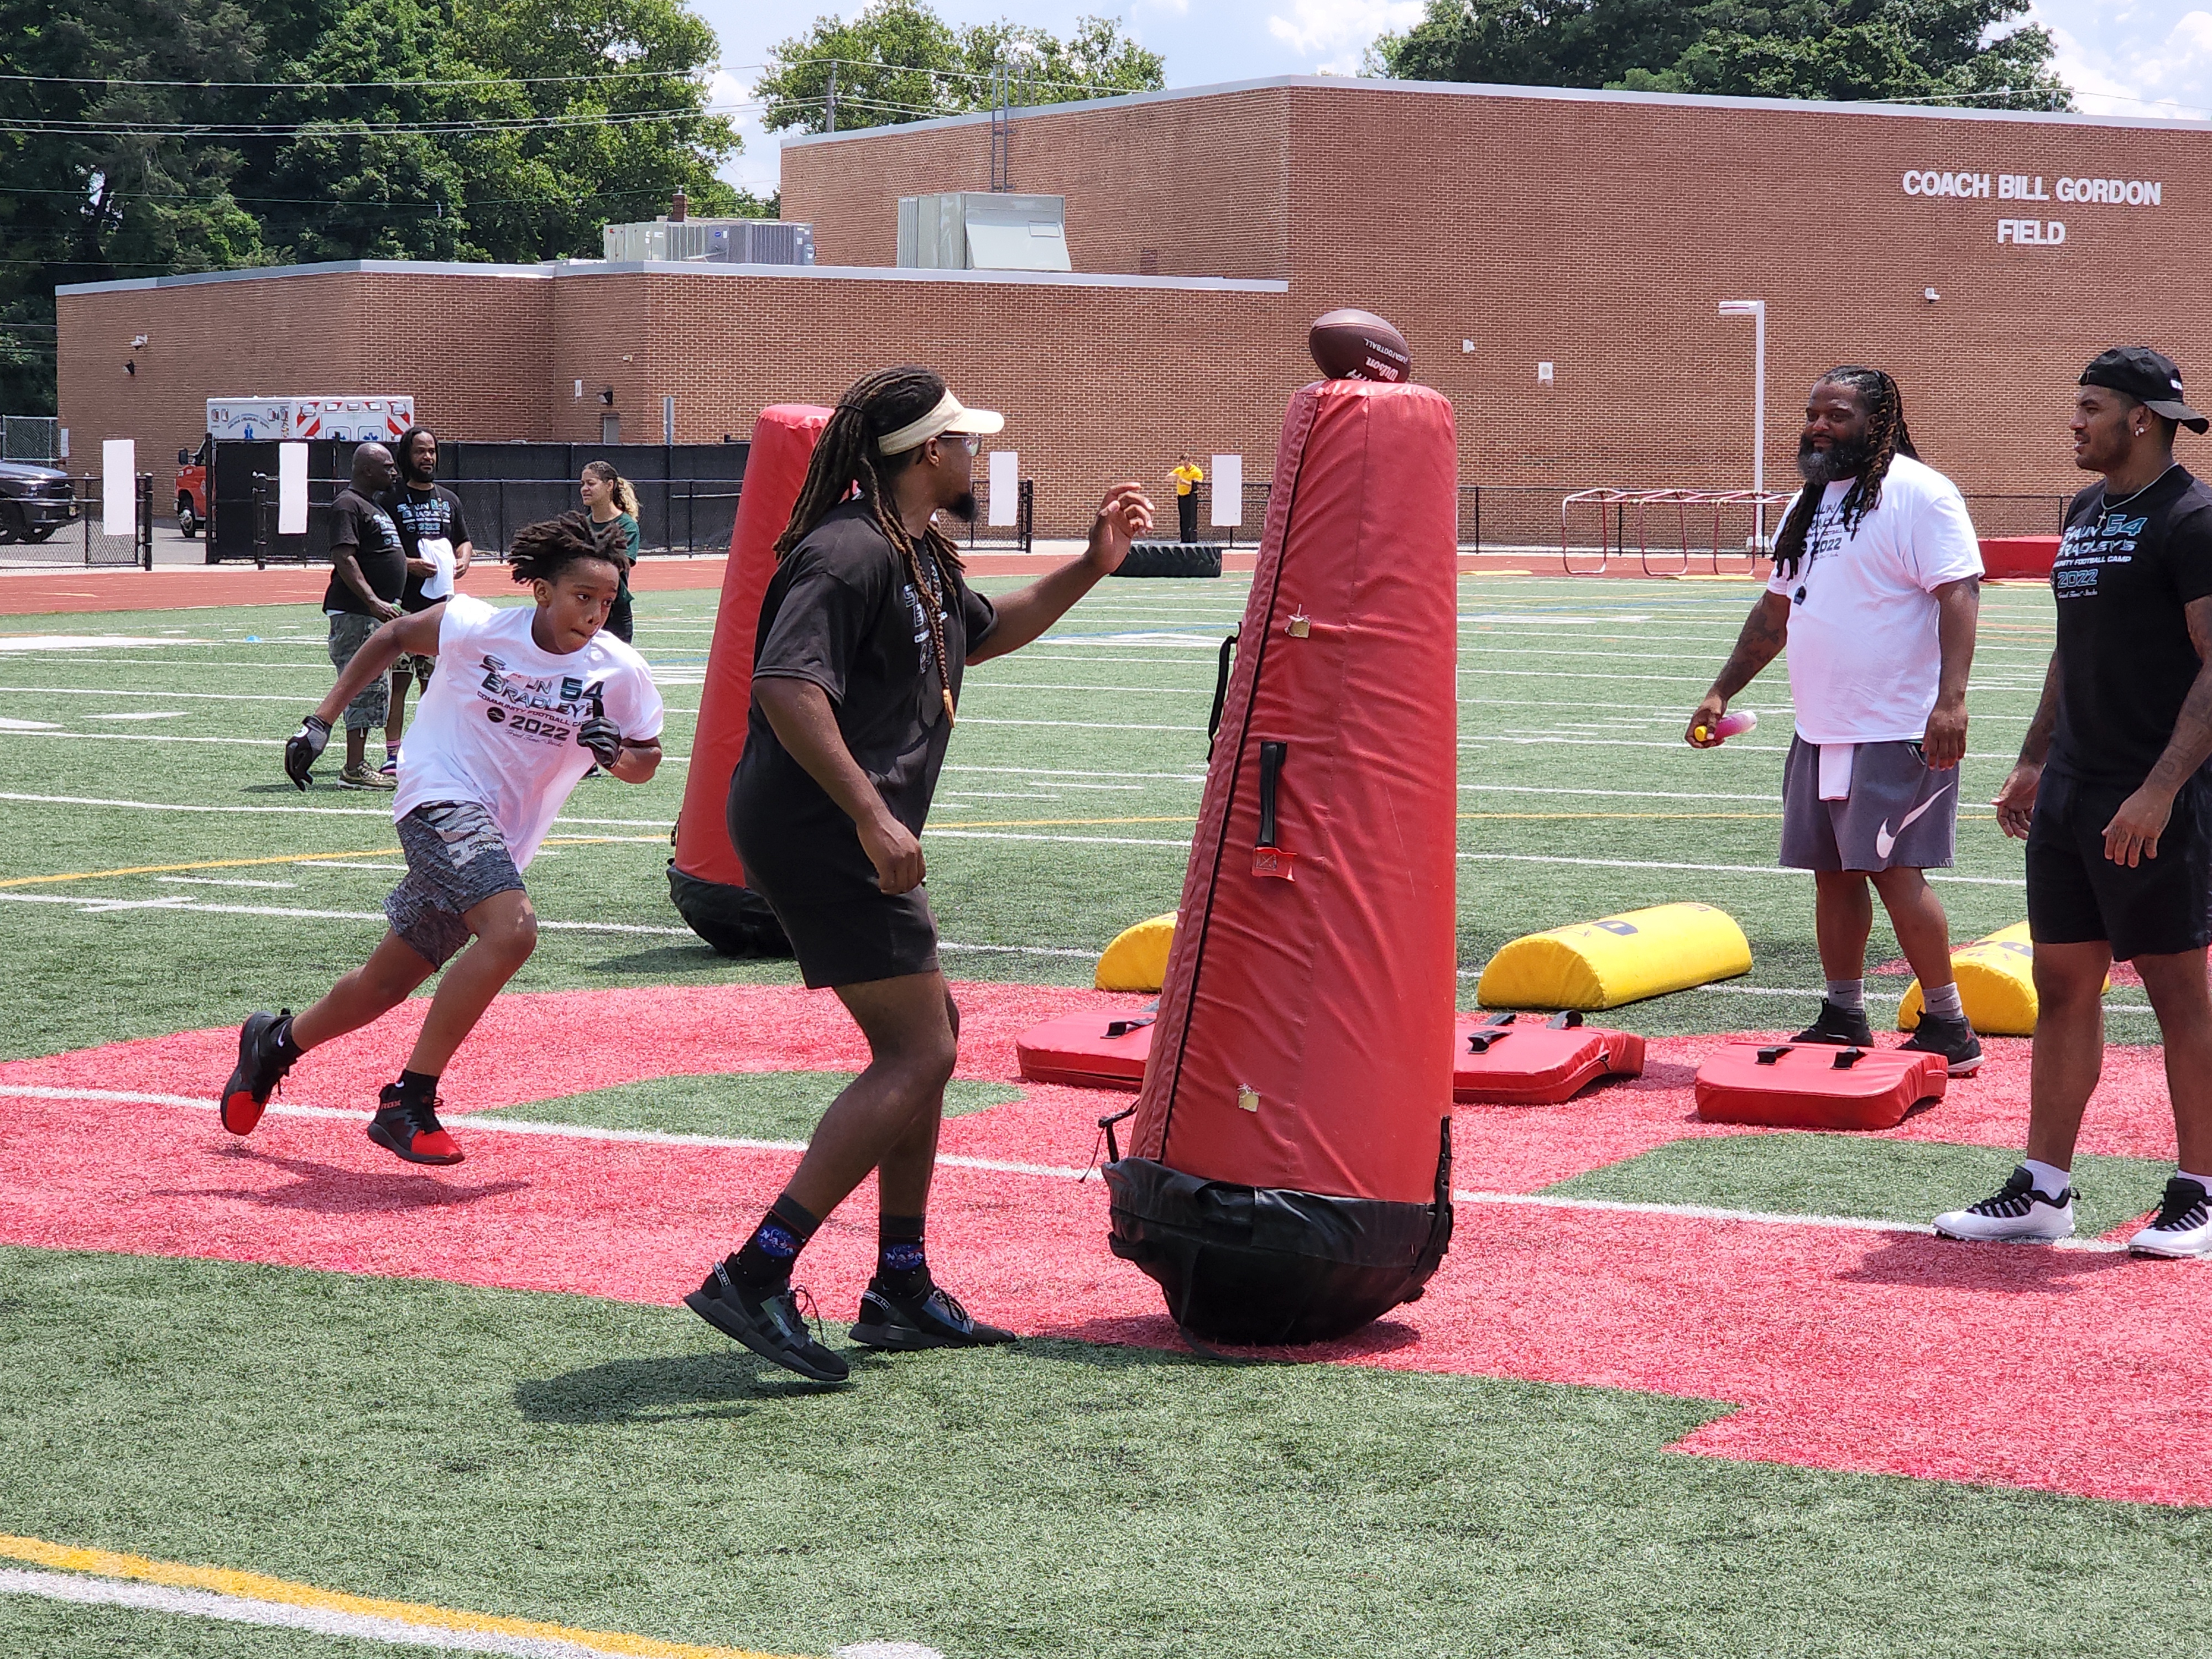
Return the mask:
<svg viewBox="0 0 2212 1659"><path fill-rule="evenodd" d="M1790 599L1790 697L1807 743L1918 743L1936 712L1942 646L1936 588L1982 575L1982 544L1958 484L1896 456L1882 500L1845 535L1843 498L1823 491Z"/></svg>

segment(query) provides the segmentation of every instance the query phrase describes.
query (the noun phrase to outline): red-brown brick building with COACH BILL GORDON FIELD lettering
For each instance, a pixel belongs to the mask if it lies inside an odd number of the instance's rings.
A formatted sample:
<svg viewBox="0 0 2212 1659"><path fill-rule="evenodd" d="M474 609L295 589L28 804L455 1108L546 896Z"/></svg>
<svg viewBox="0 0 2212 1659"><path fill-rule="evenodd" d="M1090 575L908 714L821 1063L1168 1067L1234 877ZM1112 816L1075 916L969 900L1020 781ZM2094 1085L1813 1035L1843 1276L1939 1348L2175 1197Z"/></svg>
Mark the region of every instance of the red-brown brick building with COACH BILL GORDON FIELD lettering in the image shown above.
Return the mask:
<svg viewBox="0 0 2212 1659"><path fill-rule="evenodd" d="M987 115L807 137L783 210L814 268L64 288L64 425L164 458L206 396L365 389L451 436L591 440L617 414L657 440L672 396L699 442L920 358L1009 411L1055 526L1183 449L1265 478L1334 305L1405 330L1467 480L1553 495L1747 482L1752 330L1723 299L1767 303L1770 482L1838 361L1891 369L1922 453L1980 493L2073 487L2066 405L2104 345L2212 376L2212 133L2188 122L1285 77L1020 111L1009 144L1015 190L1066 197L1073 274L891 270L900 195L989 186Z"/></svg>

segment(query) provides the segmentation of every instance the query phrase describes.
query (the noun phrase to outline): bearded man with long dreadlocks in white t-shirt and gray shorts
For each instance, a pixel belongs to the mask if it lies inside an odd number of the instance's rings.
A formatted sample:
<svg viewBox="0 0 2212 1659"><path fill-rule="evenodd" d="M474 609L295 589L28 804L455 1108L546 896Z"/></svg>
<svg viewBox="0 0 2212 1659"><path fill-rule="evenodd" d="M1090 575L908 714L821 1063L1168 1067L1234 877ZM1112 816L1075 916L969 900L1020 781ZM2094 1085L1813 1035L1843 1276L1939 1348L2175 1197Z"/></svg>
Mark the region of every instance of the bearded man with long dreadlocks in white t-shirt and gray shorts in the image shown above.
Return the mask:
<svg viewBox="0 0 2212 1659"><path fill-rule="evenodd" d="M1783 765L1781 863L1814 872L1827 975L1820 1013L1796 1040L1874 1042L1871 883L1927 998L1905 1046L1940 1053L1964 1077L1982 1064L1982 1044L1960 1009L1949 920L1922 872L1949 867L1955 845L1982 549L1958 487L1913 451L1898 383L1880 369L1840 367L1814 383L1798 471L1805 489L1774 538L1774 580L1686 737L1714 748L1728 699L1790 646L1796 734Z"/></svg>

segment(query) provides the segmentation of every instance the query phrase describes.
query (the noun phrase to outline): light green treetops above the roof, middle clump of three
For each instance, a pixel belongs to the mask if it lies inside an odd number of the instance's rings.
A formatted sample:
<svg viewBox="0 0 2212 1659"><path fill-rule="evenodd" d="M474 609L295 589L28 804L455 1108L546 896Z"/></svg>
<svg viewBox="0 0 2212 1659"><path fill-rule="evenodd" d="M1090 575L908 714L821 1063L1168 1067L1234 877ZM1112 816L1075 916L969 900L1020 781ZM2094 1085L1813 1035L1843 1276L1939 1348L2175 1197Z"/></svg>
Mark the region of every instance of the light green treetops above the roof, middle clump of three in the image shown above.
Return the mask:
<svg viewBox="0 0 2212 1659"><path fill-rule="evenodd" d="M927 0L874 0L852 22L816 18L776 44L754 84L774 131L836 131L925 122L991 108L991 75L1009 71L1018 104L1064 104L1166 84L1159 53L1121 33L1119 18L1084 15L1066 40L1018 22L953 27Z"/></svg>

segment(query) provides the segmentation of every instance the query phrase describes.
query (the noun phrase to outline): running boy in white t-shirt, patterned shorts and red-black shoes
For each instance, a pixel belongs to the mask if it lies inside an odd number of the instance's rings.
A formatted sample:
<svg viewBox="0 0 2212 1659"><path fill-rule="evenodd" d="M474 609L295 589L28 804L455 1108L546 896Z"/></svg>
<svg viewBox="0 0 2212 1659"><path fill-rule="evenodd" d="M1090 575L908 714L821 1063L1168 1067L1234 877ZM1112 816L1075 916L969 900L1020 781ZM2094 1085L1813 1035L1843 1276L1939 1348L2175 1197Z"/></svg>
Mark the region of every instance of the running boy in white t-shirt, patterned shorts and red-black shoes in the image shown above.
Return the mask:
<svg viewBox="0 0 2212 1659"><path fill-rule="evenodd" d="M653 672L602 633L619 555L568 513L526 526L509 557L535 606L453 597L387 622L285 743L285 772L305 790L330 723L363 686L400 655L440 659L392 803L407 852L407 878L385 898L392 931L305 1013L248 1018L219 1106L232 1135L252 1133L303 1053L392 1011L460 951L369 1121L369 1139L409 1164L460 1164L438 1124L438 1077L538 945L522 872L593 761L624 783L646 783L661 763Z"/></svg>

